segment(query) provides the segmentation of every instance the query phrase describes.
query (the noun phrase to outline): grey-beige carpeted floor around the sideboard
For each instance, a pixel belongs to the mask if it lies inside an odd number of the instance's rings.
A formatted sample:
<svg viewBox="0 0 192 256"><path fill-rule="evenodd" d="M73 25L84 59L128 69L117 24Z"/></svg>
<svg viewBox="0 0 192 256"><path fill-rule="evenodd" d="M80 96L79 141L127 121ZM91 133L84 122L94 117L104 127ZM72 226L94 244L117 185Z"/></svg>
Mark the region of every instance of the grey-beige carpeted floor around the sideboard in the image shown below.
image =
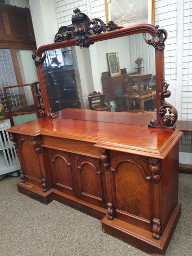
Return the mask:
<svg viewBox="0 0 192 256"><path fill-rule="evenodd" d="M19 178L0 180L0 256L145 256L102 232L100 221L56 201L18 193ZM192 256L192 175L180 174L182 213L166 256Z"/></svg>

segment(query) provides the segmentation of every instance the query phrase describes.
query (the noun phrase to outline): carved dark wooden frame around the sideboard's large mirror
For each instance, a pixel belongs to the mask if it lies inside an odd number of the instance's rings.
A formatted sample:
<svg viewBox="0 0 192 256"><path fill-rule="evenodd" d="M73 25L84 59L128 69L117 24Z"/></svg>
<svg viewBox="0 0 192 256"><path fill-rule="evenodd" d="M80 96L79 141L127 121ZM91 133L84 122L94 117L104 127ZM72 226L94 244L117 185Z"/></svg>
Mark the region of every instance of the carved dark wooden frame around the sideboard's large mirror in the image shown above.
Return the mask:
<svg viewBox="0 0 192 256"><path fill-rule="evenodd" d="M55 43L39 47L35 54L32 55L40 84L37 94L39 115L48 118L56 117L49 109L42 69L43 61L46 59L45 51L72 46L88 48L97 41L143 33L145 42L155 48L156 57L156 119L151 120L148 125L151 127L175 128L175 122L178 118L177 110L165 100L171 95L168 90L168 83L164 80L164 49L167 31L159 28L158 25L154 26L152 24L138 24L123 28L115 22L109 21L108 25L106 25L98 18L90 20L78 8L73 12L72 24L60 27L55 36ZM150 34L152 38L147 38L146 33Z"/></svg>

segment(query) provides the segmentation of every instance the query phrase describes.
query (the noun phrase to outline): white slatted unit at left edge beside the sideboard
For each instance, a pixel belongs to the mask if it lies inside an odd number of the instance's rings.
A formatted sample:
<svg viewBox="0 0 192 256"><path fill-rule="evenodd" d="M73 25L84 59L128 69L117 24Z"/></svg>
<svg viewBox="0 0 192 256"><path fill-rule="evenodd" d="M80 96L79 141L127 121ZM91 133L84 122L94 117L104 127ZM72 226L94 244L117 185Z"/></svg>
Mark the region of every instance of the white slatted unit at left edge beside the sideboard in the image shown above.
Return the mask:
<svg viewBox="0 0 192 256"><path fill-rule="evenodd" d="M21 169L17 151L5 130L11 127L9 119L0 123L0 179L7 173Z"/></svg>

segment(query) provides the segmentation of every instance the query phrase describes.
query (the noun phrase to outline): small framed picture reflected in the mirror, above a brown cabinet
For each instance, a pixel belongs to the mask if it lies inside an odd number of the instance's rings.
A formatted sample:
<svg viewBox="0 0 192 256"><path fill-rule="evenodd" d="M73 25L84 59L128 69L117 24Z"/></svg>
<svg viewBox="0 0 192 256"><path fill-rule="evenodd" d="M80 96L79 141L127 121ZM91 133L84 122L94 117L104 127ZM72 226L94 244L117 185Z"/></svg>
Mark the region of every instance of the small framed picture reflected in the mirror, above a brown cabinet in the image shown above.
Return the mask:
<svg viewBox="0 0 192 256"><path fill-rule="evenodd" d="M108 59L108 67L111 76L120 75L120 61L118 52L108 52L107 53Z"/></svg>

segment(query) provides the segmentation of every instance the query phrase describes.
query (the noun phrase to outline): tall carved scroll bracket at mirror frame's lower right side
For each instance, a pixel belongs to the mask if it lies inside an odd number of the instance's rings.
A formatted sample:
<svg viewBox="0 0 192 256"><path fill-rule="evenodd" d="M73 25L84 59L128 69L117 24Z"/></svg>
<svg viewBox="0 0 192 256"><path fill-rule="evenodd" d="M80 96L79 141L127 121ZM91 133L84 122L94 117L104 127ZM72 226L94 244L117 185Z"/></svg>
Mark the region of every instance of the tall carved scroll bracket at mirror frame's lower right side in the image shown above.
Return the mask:
<svg viewBox="0 0 192 256"><path fill-rule="evenodd" d="M165 100L165 98L169 98L171 96L171 92L168 90L169 85L167 82L165 82L164 78L162 78L161 80L161 86L162 92L160 94L160 99L162 102L162 106L158 110L160 118L159 120L153 119L148 125L151 127L155 127L158 123L160 123L162 126L174 129L175 122L178 119L178 112L175 107L173 107ZM167 112L169 112L170 115L166 115Z"/></svg>

